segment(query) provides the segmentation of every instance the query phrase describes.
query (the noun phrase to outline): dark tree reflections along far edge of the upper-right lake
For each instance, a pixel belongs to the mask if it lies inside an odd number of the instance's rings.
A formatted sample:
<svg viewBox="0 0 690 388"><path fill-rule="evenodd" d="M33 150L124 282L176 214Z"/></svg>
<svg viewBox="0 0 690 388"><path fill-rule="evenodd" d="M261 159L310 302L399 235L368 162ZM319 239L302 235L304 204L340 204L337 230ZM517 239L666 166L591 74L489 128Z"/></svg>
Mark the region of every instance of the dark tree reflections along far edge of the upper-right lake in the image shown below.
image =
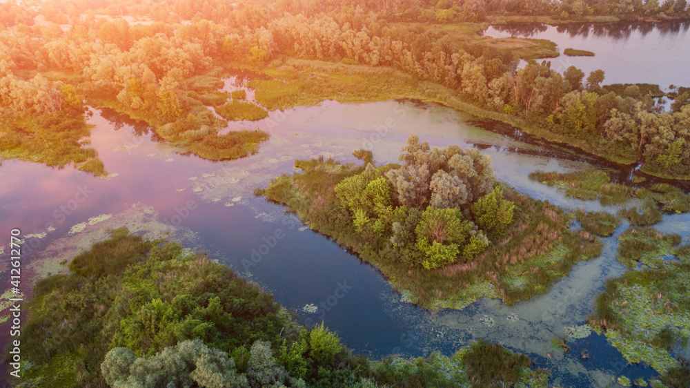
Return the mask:
<svg viewBox="0 0 690 388"><path fill-rule="evenodd" d="M507 23L502 26L493 26L500 32L508 32L516 37L533 37L540 32L546 32L549 26L542 23ZM681 30L686 32L690 28L690 21L659 21L630 22L620 21L615 23L568 23L555 27L556 31L566 33L570 37L610 37L615 40L626 41L633 32L639 32L642 37L653 30L658 30L661 35L678 34Z"/></svg>

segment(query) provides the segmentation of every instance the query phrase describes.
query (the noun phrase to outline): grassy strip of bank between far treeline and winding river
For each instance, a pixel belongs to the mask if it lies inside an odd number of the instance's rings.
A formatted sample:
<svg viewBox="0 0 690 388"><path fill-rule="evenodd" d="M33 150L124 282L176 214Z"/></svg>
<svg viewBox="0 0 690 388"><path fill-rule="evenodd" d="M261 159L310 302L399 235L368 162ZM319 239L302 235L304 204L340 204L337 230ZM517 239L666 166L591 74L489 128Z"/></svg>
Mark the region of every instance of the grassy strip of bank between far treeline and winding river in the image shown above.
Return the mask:
<svg viewBox="0 0 690 388"><path fill-rule="evenodd" d="M585 153L602 157L615 164L630 166L638 162L636 159L598 151L585 139L575 139L553 133L533 124L528 124L524 119L515 115L481 108L463 101L455 90L433 82L419 81L415 77L393 68L382 66L372 68L363 65L290 58L277 68L253 68L253 70L285 81L285 84L281 85L282 87L279 89L273 88L277 81L252 81L249 83L250 87L257 89L257 101L262 106L272 110L315 105L325 100L371 102L386 99L420 99L448 106L482 119L503 122L520 128L529 135L556 144L573 146ZM313 86L310 87L310 85ZM314 89L315 93L304 93L305 88L307 91ZM644 173L669 178L647 169L644 169ZM669 179L690 180L690 175L670 177Z"/></svg>

